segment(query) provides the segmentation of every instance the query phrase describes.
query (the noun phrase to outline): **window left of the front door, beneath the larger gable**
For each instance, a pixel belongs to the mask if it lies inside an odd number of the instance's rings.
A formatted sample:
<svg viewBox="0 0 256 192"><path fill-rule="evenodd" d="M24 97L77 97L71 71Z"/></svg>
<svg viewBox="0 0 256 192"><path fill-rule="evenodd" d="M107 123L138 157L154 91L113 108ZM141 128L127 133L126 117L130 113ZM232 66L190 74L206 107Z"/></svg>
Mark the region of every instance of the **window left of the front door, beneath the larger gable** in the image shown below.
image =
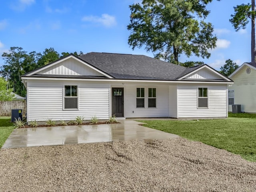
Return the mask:
<svg viewBox="0 0 256 192"><path fill-rule="evenodd" d="M76 85L65 85L64 109L78 109L78 94Z"/></svg>

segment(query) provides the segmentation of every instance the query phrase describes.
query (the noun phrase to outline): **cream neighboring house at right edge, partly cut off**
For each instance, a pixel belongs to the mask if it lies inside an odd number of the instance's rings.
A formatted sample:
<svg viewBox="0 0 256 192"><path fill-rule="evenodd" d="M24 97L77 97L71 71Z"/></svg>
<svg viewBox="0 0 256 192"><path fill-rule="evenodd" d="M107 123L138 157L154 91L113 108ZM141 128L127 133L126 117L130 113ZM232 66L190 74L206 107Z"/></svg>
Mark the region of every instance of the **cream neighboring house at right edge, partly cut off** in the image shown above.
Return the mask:
<svg viewBox="0 0 256 192"><path fill-rule="evenodd" d="M256 64L242 64L229 78L234 84L228 87L228 111L232 104L241 104L242 112L256 113Z"/></svg>

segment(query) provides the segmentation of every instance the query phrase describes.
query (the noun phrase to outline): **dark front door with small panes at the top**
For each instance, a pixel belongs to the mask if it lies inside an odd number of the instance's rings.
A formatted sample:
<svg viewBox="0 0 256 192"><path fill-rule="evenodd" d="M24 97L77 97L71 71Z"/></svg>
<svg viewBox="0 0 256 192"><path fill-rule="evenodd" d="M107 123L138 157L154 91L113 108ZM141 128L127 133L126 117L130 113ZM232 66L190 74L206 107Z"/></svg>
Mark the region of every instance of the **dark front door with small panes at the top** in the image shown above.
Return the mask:
<svg viewBox="0 0 256 192"><path fill-rule="evenodd" d="M112 115L124 116L124 88L112 88Z"/></svg>

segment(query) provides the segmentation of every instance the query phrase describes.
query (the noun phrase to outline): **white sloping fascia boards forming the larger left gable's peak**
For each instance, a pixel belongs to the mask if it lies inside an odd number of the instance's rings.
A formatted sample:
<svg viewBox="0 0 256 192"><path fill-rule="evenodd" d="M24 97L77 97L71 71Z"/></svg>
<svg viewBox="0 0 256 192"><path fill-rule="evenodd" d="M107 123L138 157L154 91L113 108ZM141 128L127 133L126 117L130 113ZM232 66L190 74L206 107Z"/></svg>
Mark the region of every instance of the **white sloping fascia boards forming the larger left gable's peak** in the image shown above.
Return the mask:
<svg viewBox="0 0 256 192"><path fill-rule="evenodd" d="M65 60L68 60L68 59L70 59L70 58L75 59L76 61L78 61L78 62L80 62L80 63L82 63L82 64L84 64L84 65L86 65L86 66L88 66L88 67L90 67L90 68L92 68L93 70L99 72L100 74L102 74L102 75L104 75L104 76L106 76L106 77L108 77L108 78L110 78L110 79L113 78L112 76L110 76L110 75L104 73L103 71L101 71L101 70L95 68L94 66L88 64L87 62L85 62L85 61L83 61L83 60L80 60L80 59L74 57L73 55L70 55L70 56L65 57L65 58L63 58L63 59L60 59L60 60L58 60L58 61L56 61L56 62L53 62L52 64L46 65L45 67L42 67L42 68L40 68L40 69L38 69L38 70L36 70L36 71L34 71L34 72L28 74L28 76L31 76L31 75L33 75L33 74L36 74L36 73L38 73L38 72L40 72L40 71L42 71L42 70L45 70L45 69L47 69L47 68L49 68L49 67L52 67L52 66L54 66L54 65L56 65L56 64L58 64L58 63L60 63L60 62L63 62L63 61L65 61Z"/></svg>

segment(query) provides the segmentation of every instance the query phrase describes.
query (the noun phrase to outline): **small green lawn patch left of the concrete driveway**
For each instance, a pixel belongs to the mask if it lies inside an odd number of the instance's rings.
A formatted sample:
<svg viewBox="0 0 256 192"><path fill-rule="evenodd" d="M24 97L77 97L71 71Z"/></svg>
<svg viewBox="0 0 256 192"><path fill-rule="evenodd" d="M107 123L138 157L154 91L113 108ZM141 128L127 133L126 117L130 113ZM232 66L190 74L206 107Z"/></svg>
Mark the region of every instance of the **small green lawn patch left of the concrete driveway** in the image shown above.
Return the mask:
<svg viewBox="0 0 256 192"><path fill-rule="evenodd" d="M10 117L0 117L0 148L14 129L10 120Z"/></svg>

